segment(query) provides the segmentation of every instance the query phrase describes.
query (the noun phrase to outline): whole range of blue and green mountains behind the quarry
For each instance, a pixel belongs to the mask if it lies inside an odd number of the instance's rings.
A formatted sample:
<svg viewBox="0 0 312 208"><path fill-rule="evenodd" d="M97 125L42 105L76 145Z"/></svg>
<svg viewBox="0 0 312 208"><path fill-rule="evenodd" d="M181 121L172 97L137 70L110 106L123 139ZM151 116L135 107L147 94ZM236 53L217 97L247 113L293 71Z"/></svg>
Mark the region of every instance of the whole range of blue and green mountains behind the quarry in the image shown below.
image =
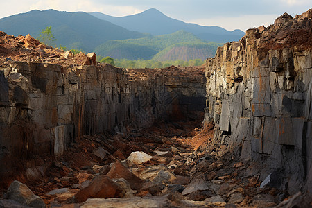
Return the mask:
<svg viewBox="0 0 312 208"><path fill-rule="evenodd" d="M218 43L239 40L243 31L199 26L167 17L156 9L137 15L112 17L99 12L31 10L0 19L0 31L9 35L39 37L51 26L54 46L66 46L112 58L205 60Z"/></svg>

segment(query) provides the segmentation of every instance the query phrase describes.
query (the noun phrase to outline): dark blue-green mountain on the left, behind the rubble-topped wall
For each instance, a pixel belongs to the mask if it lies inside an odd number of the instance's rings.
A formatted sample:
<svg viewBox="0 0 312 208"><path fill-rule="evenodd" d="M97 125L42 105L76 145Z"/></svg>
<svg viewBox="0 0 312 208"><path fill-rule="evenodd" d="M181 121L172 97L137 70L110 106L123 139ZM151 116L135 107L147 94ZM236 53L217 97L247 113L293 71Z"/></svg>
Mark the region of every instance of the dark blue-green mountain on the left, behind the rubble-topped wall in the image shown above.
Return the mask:
<svg viewBox="0 0 312 208"><path fill-rule="evenodd" d="M59 12L56 10L32 10L0 19L0 31L9 35L38 37L42 29L51 26L55 44L68 48L93 51L107 40L139 38L145 35L128 31L109 21L98 19L86 12Z"/></svg>

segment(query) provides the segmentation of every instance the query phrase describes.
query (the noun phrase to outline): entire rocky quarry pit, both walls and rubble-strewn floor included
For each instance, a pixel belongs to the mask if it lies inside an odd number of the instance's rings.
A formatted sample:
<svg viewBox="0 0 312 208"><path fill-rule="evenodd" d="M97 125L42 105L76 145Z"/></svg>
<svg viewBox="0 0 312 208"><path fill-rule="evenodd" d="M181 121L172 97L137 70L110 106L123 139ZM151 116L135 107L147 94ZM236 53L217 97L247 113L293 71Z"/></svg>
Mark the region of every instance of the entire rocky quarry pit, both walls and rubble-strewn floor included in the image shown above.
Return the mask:
<svg viewBox="0 0 312 208"><path fill-rule="evenodd" d="M311 207L312 10L205 67L0 32L0 207Z"/></svg>

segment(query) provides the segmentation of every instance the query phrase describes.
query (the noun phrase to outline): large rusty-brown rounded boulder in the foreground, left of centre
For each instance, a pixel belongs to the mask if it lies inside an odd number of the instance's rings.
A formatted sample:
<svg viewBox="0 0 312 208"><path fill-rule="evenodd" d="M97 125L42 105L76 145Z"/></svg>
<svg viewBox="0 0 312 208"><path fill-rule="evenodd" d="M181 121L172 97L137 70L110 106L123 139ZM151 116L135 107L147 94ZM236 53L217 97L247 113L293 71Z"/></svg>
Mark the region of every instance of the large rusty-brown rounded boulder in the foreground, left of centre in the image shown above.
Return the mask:
<svg viewBox="0 0 312 208"><path fill-rule="evenodd" d="M88 198L114 198L119 196L121 189L110 177L99 175L85 189L75 195L77 202L85 202Z"/></svg>

